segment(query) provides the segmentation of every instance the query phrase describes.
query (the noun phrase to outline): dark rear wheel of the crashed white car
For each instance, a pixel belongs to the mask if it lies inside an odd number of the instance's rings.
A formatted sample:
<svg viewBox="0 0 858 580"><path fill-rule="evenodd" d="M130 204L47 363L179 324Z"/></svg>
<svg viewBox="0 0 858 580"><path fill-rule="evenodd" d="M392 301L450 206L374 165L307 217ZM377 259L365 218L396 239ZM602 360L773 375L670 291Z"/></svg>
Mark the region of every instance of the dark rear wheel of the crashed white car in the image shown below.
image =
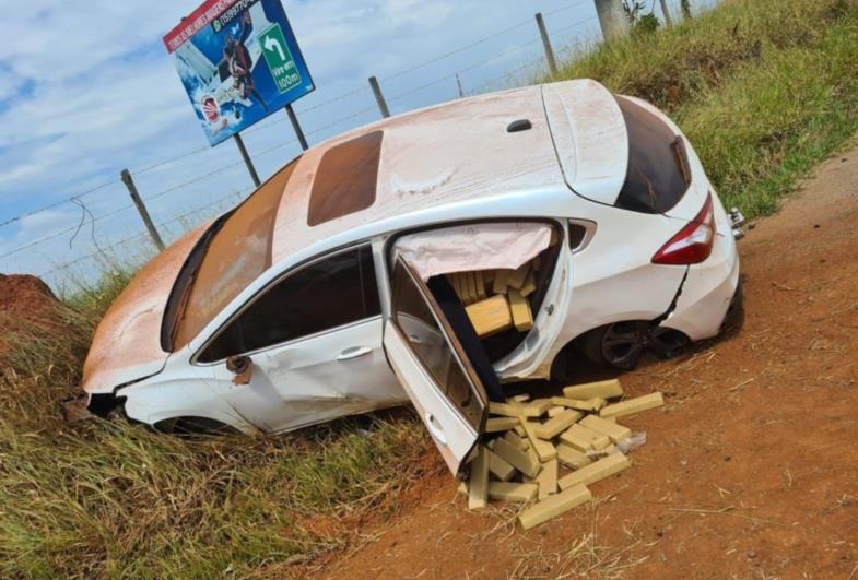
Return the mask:
<svg viewBox="0 0 858 580"><path fill-rule="evenodd" d="M689 339L682 332L653 327L646 320L614 322L585 334L581 350L598 365L632 370L645 351L659 358L670 358L682 353Z"/></svg>

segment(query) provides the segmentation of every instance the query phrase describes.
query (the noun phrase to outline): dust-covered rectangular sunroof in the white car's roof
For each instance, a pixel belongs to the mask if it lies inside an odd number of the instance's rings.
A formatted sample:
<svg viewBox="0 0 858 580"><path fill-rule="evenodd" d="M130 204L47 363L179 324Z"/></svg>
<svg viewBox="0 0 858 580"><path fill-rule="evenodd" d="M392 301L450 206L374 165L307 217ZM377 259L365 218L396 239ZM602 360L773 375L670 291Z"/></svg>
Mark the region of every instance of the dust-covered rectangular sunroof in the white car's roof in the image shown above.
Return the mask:
<svg viewBox="0 0 858 580"><path fill-rule="evenodd" d="M381 131L340 143L321 156L313 180L307 225L317 226L375 203Z"/></svg>

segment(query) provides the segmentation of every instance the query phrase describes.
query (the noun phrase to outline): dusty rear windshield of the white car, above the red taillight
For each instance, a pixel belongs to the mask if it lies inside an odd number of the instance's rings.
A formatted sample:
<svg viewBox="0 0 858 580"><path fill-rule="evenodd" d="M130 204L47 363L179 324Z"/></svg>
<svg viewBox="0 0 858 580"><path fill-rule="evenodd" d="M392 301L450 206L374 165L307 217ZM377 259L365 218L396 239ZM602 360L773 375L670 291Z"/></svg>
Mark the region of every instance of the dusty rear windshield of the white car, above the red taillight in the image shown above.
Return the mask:
<svg viewBox="0 0 858 580"><path fill-rule="evenodd" d="M628 131L628 170L618 208L642 213L672 209L691 185L681 137L665 121L628 98L616 96Z"/></svg>

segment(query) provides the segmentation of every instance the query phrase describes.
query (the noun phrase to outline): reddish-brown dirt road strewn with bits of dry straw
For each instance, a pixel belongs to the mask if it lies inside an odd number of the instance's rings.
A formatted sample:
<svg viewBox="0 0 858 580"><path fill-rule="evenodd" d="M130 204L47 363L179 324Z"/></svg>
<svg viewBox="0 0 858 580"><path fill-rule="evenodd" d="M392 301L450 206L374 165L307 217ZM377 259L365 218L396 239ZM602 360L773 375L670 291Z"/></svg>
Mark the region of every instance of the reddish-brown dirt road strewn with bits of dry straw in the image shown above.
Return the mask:
<svg viewBox="0 0 858 580"><path fill-rule="evenodd" d="M512 507L468 512L436 460L315 573L858 578L857 238L858 149L741 241L738 332L621 377L668 404L625 422L648 442L590 508L522 532Z"/></svg>

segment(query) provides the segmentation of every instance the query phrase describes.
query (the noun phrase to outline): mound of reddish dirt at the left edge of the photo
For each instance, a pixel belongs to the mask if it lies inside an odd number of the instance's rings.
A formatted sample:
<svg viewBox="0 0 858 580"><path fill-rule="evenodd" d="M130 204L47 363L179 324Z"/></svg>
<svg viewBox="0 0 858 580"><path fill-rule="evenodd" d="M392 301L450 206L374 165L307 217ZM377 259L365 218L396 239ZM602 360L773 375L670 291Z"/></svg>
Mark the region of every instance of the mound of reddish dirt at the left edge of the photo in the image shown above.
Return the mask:
<svg viewBox="0 0 858 580"><path fill-rule="evenodd" d="M60 322L60 301L42 280L27 274L0 274L0 355L10 336Z"/></svg>

